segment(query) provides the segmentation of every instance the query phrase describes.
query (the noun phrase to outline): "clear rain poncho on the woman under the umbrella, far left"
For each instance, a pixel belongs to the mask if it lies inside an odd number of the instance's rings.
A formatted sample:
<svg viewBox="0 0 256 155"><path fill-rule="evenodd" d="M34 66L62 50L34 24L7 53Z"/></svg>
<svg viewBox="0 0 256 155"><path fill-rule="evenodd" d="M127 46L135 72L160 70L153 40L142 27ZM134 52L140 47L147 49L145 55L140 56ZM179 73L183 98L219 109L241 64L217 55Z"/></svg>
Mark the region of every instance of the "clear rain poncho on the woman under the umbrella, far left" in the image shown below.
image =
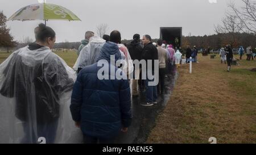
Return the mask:
<svg viewBox="0 0 256 155"><path fill-rule="evenodd" d="M75 143L80 129L69 111L75 79L48 47L13 52L0 65L0 143Z"/></svg>

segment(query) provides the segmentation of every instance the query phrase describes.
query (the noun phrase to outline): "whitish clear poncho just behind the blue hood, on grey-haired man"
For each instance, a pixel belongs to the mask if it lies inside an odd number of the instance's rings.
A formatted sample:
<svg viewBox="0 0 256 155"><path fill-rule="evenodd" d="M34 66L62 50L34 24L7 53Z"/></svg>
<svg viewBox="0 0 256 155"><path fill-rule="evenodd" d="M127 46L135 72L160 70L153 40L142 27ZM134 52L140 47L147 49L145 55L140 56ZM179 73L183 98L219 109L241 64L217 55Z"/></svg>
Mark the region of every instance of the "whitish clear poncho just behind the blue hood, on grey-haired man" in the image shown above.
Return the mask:
<svg viewBox="0 0 256 155"><path fill-rule="evenodd" d="M90 37L89 44L82 48L73 69L78 70L78 68L84 68L85 66L95 64L100 55L101 48L105 43L106 41L101 37Z"/></svg>

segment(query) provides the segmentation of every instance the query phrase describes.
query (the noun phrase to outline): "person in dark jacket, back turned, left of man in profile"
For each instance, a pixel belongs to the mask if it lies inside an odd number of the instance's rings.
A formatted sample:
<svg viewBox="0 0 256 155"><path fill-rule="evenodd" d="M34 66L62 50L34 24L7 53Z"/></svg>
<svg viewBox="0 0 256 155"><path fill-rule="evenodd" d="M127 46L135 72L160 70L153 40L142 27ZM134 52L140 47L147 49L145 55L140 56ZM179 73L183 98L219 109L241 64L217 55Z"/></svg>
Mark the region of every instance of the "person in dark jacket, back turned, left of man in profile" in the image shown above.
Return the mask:
<svg viewBox="0 0 256 155"><path fill-rule="evenodd" d="M139 34L135 34L133 36L133 41L131 41L131 43L129 43L127 45L127 48L130 52L130 56L131 59L134 60L138 60L141 61L141 56L142 56L142 51L143 48L140 44L140 38L141 36L139 36ZM134 77L135 77L135 73L141 73L141 68L139 70L137 70L137 72L135 72L135 65L134 65ZM139 75L136 75L139 77ZM142 86L141 86L142 87ZM138 79L134 79L133 80L133 91L132 91L132 95L133 97L138 97L139 93L138 93Z"/></svg>

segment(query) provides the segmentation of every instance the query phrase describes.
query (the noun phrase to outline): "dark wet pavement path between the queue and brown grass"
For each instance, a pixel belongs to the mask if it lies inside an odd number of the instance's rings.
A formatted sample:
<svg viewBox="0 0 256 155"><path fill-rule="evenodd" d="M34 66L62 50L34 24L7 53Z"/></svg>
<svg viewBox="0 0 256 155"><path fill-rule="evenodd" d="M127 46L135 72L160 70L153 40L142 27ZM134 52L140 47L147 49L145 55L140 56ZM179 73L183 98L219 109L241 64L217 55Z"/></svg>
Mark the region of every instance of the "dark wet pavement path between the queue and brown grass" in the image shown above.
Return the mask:
<svg viewBox="0 0 256 155"><path fill-rule="evenodd" d="M141 106L146 100L146 94L140 93L139 97L132 99L133 122L127 133L119 133L115 143L117 144L142 144L147 140L151 129L155 126L155 120L168 103L174 89L177 73L165 79L164 95L158 95L158 104L154 106Z"/></svg>

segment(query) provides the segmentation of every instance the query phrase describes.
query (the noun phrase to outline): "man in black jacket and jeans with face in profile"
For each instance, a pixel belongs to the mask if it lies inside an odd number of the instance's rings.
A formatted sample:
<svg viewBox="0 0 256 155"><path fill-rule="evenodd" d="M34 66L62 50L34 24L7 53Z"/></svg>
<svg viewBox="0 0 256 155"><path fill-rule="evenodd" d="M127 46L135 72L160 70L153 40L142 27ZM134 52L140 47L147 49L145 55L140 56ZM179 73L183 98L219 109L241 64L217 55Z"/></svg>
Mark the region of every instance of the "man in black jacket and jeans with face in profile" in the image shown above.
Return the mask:
<svg viewBox="0 0 256 155"><path fill-rule="evenodd" d="M154 70L154 60L158 60L158 49L152 44L150 35L144 35L142 38L142 43L144 45L144 48L142 51L142 59L146 60L146 64L148 60L152 61L152 74L155 74L154 71L159 72L159 70ZM148 72L148 68L147 68L147 72ZM146 103L142 104L142 106L153 106L154 104L158 103L156 101L156 99L158 98L156 86L148 85L148 82L151 82L151 81L152 80L150 80L148 77L145 80Z"/></svg>

